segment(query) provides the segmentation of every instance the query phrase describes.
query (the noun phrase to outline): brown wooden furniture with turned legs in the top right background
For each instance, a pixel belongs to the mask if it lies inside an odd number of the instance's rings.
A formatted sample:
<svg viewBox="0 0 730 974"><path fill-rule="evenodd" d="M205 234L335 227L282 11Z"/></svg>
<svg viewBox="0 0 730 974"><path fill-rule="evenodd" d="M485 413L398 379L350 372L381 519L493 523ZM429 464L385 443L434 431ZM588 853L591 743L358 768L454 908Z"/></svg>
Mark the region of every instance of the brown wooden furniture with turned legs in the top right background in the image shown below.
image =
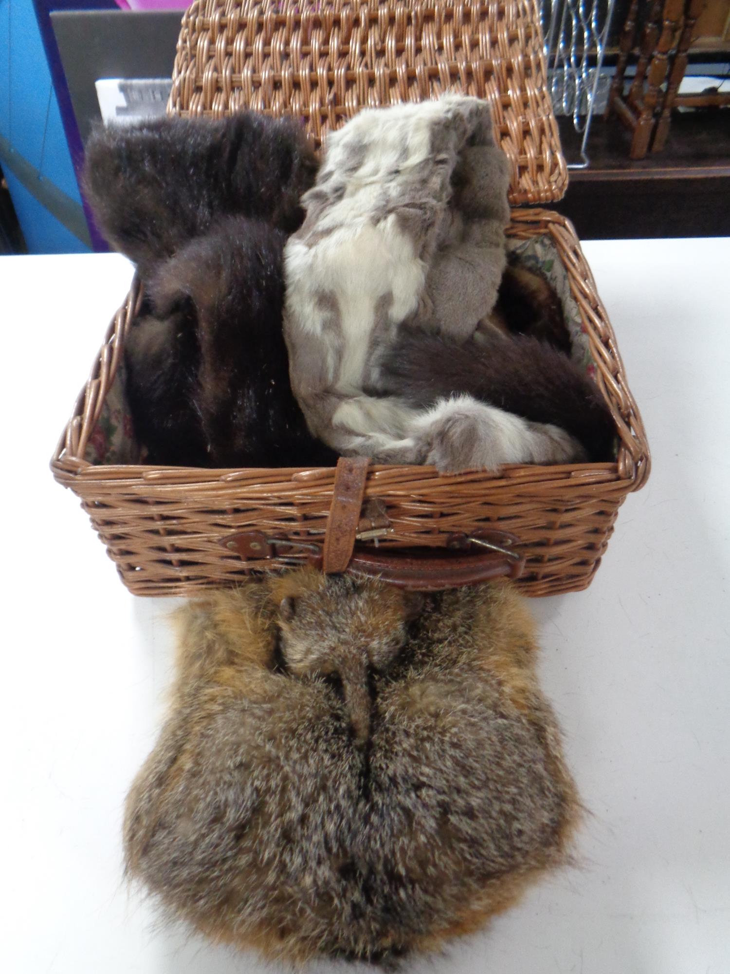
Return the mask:
<svg viewBox="0 0 730 974"><path fill-rule="evenodd" d="M696 29L698 21L700 29ZM705 29L719 33L703 34ZM639 0L632 0L621 32L616 74L605 110L606 118L615 113L634 132L632 159L643 159L649 149L659 152L664 148L676 106L730 104L730 94L677 94L695 37L702 36L705 50L710 49L708 42L712 41L719 42L722 49L723 42L730 38L730 3L727 0L649 0L639 42L638 35ZM624 94L626 67L635 50L639 54L636 75L628 94Z"/></svg>

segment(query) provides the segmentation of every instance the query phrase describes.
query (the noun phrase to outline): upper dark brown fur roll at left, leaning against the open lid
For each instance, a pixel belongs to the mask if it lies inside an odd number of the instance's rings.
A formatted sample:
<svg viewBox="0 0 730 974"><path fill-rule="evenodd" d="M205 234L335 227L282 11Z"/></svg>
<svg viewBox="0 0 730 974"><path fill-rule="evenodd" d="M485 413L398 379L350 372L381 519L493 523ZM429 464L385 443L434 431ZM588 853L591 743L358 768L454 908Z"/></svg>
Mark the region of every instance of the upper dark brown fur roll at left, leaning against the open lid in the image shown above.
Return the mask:
<svg viewBox="0 0 730 974"><path fill-rule="evenodd" d="M263 219L291 233L316 169L294 122L242 112L97 128L84 188L101 232L144 273L218 217Z"/></svg>

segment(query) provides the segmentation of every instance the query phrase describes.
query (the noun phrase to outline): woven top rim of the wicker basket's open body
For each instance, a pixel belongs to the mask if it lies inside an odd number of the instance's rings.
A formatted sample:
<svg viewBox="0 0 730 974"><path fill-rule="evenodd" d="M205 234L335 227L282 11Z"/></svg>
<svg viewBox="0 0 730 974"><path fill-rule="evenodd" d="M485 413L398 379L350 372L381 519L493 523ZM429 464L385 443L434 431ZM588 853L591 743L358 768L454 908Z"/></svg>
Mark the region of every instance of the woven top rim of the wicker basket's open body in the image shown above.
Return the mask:
<svg viewBox="0 0 730 974"><path fill-rule="evenodd" d="M605 314L596 284L585 261L575 230L566 217L550 210L513 209L508 233L529 237L549 233L566 264L571 292L578 304L587 331L591 352L596 361L594 377L616 424L619 450L616 461L600 464L509 465L498 472L485 470L458 474L439 474L433 467L372 466L368 471L368 494L403 491L422 483L429 493L474 489L498 491L508 487L532 493L535 485L541 494L555 485L554 497L569 493L593 492L624 495L639 490L648 478L651 456L639 407L626 382L623 360L618 352L615 334ZM51 459L55 478L64 486L81 487L82 483L114 484L120 492L174 492L185 488L234 490L237 496L247 488L267 488L278 484L292 493L331 489L335 468L194 468L164 467L144 464L93 465L85 459L89 437L100 416L104 398L114 382L122 357L124 336L142 299L140 281L135 275L124 305L116 313L91 369L91 375L79 393L69 422L62 431Z"/></svg>

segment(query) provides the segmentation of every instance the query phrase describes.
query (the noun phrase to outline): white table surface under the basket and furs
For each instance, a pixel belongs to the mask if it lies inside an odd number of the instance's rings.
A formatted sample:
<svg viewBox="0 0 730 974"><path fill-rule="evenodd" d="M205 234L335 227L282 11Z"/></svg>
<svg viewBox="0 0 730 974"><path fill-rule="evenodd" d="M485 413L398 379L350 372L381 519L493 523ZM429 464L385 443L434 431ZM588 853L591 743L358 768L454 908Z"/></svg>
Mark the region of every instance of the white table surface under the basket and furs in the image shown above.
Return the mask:
<svg viewBox="0 0 730 974"><path fill-rule="evenodd" d="M419 974L730 971L730 241L585 252L654 458L592 587L530 603L590 816L575 868ZM122 876L170 603L128 594L48 462L129 279L116 255L0 258L0 968L256 974L251 955L161 930Z"/></svg>

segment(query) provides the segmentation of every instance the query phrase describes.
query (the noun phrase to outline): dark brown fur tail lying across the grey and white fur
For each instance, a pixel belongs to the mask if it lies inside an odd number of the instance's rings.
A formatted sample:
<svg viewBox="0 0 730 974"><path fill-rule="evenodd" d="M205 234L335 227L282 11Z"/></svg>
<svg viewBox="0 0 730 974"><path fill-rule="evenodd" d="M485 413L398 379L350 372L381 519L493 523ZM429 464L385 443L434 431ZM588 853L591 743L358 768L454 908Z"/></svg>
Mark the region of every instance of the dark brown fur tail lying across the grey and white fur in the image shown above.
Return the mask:
<svg viewBox="0 0 730 974"><path fill-rule="evenodd" d="M565 430L592 462L609 460L616 428L598 387L556 349L534 338L457 345L404 332L383 362L383 389L412 406L466 393L532 424Z"/></svg>

